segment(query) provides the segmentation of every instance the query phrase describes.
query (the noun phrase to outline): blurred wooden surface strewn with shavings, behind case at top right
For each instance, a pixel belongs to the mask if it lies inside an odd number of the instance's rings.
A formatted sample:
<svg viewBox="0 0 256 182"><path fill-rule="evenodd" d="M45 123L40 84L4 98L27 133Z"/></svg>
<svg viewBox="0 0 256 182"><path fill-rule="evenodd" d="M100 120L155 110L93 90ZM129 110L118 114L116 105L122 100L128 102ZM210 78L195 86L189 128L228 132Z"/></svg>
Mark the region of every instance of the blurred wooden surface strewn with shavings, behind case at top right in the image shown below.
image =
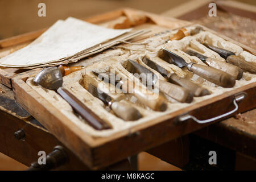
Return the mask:
<svg viewBox="0 0 256 182"><path fill-rule="evenodd" d="M162 15L202 24L255 49L256 6L236 1L215 1L217 16L210 17L210 2L212 1L188 1Z"/></svg>

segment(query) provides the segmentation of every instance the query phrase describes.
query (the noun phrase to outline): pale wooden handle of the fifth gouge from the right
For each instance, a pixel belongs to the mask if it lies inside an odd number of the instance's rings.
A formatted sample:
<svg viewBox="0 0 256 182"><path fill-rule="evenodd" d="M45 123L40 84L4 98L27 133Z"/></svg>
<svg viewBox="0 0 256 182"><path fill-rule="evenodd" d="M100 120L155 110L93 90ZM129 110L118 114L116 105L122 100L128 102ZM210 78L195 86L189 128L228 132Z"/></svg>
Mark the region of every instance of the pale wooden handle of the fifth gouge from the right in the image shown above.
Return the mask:
<svg viewBox="0 0 256 182"><path fill-rule="evenodd" d="M161 92L166 93L168 96L174 98L179 102L191 103L193 101L193 93L189 90L182 88L179 85L171 84L170 82L158 80L158 88Z"/></svg>

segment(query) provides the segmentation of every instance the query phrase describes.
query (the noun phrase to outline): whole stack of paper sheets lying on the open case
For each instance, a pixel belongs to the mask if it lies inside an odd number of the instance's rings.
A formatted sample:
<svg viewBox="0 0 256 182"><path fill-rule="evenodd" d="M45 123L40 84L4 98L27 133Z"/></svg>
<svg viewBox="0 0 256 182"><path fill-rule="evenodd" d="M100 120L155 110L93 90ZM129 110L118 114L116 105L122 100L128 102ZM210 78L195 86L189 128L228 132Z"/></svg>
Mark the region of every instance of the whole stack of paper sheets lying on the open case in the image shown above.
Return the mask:
<svg viewBox="0 0 256 182"><path fill-rule="evenodd" d="M114 30L69 17L58 20L28 46L0 59L0 66L32 69L68 64L144 32Z"/></svg>

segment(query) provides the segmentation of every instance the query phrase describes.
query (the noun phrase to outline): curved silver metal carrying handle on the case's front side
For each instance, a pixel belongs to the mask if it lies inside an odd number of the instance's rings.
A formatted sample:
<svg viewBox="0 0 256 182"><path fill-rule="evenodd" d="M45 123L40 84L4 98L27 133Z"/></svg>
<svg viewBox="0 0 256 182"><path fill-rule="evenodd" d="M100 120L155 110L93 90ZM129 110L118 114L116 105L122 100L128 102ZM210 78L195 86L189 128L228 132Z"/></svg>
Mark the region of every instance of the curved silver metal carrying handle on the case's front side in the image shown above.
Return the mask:
<svg viewBox="0 0 256 182"><path fill-rule="evenodd" d="M224 118L224 117L236 112L238 110L237 102L243 100L243 98L245 98L245 97L246 97L246 93L244 93L244 92L237 94L234 97L234 100L233 100L233 104L234 104L235 108L233 110L229 111L228 113L218 115L217 117L210 118L210 119L205 119L205 120L199 120L196 117L193 117L193 115L185 114L185 115L181 115L179 117L179 121L182 122L182 121L185 121L187 119L193 119L195 122L203 124L203 123L208 123L208 122L215 121L215 120L220 119L220 118Z"/></svg>

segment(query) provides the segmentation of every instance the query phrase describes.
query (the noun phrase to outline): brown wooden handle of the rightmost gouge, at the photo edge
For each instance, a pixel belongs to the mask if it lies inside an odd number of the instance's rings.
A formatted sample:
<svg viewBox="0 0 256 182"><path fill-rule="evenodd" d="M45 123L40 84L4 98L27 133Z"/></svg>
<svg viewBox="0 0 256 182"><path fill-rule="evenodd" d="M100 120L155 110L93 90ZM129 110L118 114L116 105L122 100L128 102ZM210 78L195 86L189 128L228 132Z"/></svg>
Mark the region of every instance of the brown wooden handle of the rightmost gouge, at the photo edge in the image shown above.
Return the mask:
<svg viewBox="0 0 256 182"><path fill-rule="evenodd" d="M226 61L230 64L233 64L233 65L236 65L237 67L242 68L243 71L256 74L256 65L255 64L249 63L236 55L228 56Z"/></svg>

